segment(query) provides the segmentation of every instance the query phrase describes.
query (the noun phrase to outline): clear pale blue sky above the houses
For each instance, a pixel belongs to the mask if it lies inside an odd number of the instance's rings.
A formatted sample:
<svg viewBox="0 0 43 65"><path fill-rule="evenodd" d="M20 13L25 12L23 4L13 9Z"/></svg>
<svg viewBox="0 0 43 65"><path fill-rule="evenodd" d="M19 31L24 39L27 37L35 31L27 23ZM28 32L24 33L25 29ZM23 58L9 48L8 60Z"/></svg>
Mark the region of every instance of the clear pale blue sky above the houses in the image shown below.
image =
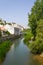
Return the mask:
<svg viewBox="0 0 43 65"><path fill-rule="evenodd" d="M0 0L0 18L27 27L28 12L30 13L34 2L35 0Z"/></svg>

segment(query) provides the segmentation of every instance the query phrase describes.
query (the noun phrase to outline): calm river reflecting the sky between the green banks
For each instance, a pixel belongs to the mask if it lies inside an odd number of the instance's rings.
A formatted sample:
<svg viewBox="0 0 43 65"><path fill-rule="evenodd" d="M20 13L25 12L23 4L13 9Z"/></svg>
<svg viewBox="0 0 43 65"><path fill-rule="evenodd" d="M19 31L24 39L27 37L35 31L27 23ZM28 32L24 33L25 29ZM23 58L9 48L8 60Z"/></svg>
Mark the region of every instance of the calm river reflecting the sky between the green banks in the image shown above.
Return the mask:
<svg viewBox="0 0 43 65"><path fill-rule="evenodd" d="M16 39L7 52L2 65L43 65L40 64L24 44L23 39Z"/></svg>

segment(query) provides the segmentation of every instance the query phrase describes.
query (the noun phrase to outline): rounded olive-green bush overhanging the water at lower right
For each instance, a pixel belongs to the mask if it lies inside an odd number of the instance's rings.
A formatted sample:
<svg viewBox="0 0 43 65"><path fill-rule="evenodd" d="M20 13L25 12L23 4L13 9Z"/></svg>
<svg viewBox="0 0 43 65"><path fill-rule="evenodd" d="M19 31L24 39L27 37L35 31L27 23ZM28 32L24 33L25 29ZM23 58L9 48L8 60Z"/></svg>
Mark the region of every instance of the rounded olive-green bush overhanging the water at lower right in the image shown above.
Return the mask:
<svg viewBox="0 0 43 65"><path fill-rule="evenodd" d="M37 39L37 41L29 45L29 48L33 54L40 54L43 52L43 42Z"/></svg>

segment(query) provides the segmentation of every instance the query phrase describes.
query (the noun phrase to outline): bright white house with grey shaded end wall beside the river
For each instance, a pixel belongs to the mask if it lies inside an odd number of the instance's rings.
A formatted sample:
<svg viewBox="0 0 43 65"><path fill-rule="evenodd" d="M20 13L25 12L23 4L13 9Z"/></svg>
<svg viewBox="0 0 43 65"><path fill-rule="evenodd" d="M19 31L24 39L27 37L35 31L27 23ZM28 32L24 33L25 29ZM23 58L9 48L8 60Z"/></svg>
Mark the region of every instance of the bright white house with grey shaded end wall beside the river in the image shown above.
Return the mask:
<svg viewBox="0 0 43 65"><path fill-rule="evenodd" d="M15 34L15 35L20 34L20 29L16 25L12 26L12 25L6 24L4 27L5 27L6 31L10 32L10 34Z"/></svg>

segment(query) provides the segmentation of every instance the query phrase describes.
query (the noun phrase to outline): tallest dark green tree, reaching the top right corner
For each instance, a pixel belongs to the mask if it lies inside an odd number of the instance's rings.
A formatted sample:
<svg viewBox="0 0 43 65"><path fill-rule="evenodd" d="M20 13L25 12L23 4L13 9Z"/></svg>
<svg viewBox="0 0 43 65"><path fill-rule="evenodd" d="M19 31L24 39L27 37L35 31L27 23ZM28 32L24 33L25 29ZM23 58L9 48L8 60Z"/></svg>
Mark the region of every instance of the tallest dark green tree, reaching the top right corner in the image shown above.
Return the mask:
<svg viewBox="0 0 43 65"><path fill-rule="evenodd" d="M28 15L30 28L34 39L36 37L37 21L43 19L43 0L36 0L34 6L31 9L31 14Z"/></svg>

